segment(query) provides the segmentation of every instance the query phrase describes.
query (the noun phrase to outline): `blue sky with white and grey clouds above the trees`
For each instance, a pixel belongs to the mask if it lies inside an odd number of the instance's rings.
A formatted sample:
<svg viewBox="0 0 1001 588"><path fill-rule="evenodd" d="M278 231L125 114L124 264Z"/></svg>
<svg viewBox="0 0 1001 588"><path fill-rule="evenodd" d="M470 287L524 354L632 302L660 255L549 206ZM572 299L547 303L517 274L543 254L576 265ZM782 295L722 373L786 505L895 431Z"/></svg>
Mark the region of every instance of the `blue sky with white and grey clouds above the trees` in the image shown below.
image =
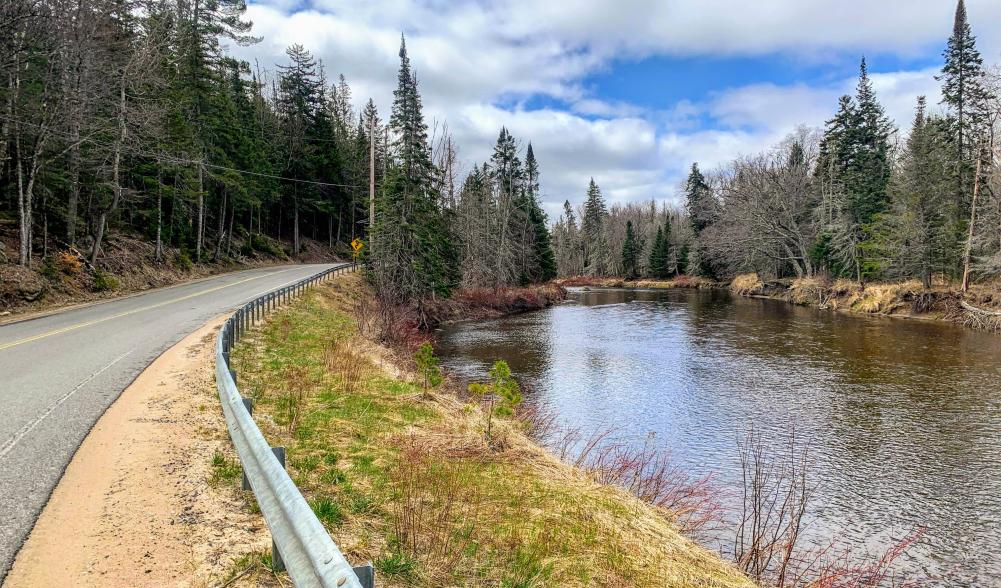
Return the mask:
<svg viewBox="0 0 1001 588"><path fill-rule="evenodd" d="M986 63L1001 63L1001 1L967 0ZM464 169L502 126L531 141L551 217L591 177L610 203L677 202L693 162L712 169L822 127L866 57L902 132L935 75L954 0L249 0L262 68L299 43L356 108L387 118L400 34L428 124Z"/></svg>

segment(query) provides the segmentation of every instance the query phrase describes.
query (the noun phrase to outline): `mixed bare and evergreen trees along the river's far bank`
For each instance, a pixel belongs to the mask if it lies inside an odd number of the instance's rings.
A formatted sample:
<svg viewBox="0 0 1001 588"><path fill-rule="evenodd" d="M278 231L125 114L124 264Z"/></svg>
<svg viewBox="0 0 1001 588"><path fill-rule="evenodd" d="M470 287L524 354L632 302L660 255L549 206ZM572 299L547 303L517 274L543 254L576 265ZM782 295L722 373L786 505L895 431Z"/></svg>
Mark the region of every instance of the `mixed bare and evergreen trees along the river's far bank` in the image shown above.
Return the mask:
<svg viewBox="0 0 1001 588"><path fill-rule="evenodd" d="M971 275L998 275L1001 84L983 64L962 1L944 57L943 113L918 97L906 140L863 59L855 94L839 100L823 131L800 129L708 173L693 165L684 209L607 211L593 181L583 210L568 203L556 224L560 273L663 276L666 255L669 275L717 279L757 271L965 288Z"/></svg>

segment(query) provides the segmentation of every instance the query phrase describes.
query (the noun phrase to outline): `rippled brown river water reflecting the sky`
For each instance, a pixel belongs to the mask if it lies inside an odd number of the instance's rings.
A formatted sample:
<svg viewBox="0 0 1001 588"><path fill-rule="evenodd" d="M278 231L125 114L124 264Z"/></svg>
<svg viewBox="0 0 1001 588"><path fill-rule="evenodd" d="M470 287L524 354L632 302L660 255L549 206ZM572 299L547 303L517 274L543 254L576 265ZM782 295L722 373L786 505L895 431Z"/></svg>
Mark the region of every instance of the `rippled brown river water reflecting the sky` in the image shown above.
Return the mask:
<svg viewBox="0 0 1001 588"><path fill-rule="evenodd" d="M749 428L808 445L816 536L878 550L924 527L897 568L1001 586L1001 337L717 290L579 290L567 304L439 334L452 374L506 360L568 425L651 435L692 475L742 488Z"/></svg>

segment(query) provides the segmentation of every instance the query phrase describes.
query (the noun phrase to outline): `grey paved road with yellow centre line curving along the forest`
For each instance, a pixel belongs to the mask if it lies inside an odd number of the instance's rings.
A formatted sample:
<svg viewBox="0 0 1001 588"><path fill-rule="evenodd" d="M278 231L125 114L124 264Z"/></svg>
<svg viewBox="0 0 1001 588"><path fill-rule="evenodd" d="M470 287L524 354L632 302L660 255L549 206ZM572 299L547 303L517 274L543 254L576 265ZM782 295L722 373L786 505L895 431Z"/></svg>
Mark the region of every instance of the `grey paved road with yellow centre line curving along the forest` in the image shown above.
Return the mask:
<svg viewBox="0 0 1001 588"><path fill-rule="evenodd" d="M0 582L80 442L161 353L330 265L250 269L0 327Z"/></svg>

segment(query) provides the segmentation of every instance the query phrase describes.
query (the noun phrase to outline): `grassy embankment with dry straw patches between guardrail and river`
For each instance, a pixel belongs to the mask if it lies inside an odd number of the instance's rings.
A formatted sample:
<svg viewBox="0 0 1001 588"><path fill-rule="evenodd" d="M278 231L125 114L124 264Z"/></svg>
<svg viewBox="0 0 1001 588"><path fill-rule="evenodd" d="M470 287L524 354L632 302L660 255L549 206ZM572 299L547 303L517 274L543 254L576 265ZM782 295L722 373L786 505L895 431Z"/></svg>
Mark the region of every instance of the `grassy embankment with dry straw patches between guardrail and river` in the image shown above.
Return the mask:
<svg viewBox="0 0 1001 588"><path fill-rule="evenodd" d="M365 337L370 296L358 275L309 292L233 364L313 510L380 586L752 586L670 513L563 464L519 423L494 417L487 443L480 405L447 384L425 394L408 361ZM268 562L248 554L233 574L274 583Z"/></svg>

